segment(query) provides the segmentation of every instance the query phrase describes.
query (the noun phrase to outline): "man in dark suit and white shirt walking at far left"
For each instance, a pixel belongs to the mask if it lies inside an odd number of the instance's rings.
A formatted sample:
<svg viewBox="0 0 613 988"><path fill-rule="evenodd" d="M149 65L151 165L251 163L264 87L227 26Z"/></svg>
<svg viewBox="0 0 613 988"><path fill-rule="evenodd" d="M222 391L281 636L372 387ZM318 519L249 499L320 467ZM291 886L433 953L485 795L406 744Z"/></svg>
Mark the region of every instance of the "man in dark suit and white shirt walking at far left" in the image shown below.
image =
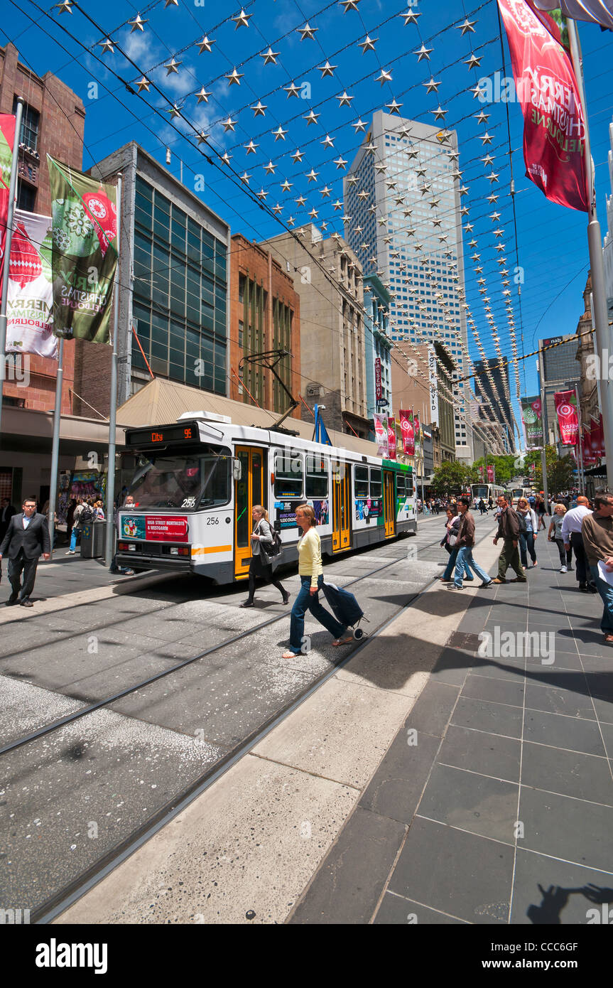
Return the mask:
<svg viewBox="0 0 613 988"><path fill-rule="evenodd" d="M9 554L9 580L12 593L7 601L7 607L21 604L24 608L34 605L30 595L34 590L37 578L37 566L40 553L43 559L48 559L51 552L49 530L44 515L38 515L36 498L26 498L23 513L13 515L6 535L0 545L0 559ZM22 571L24 585L21 585ZM19 600L18 600L19 598Z"/></svg>

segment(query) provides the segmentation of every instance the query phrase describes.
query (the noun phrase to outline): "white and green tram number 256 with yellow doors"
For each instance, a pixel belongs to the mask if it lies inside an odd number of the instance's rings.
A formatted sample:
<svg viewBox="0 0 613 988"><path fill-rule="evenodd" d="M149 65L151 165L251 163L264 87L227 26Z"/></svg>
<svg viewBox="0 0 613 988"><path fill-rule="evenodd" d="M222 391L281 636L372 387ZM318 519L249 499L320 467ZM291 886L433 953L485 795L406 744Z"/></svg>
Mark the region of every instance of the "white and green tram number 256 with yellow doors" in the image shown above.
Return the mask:
<svg viewBox="0 0 613 988"><path fill-rule="evenodd" d="M313 507L327 556L417 532L413 469L395 460L208 412L125 433L136 465L134 506L118 511L120 566L247 579L257 504L281 537L283 564L298 558L300 504Z"/></svg>

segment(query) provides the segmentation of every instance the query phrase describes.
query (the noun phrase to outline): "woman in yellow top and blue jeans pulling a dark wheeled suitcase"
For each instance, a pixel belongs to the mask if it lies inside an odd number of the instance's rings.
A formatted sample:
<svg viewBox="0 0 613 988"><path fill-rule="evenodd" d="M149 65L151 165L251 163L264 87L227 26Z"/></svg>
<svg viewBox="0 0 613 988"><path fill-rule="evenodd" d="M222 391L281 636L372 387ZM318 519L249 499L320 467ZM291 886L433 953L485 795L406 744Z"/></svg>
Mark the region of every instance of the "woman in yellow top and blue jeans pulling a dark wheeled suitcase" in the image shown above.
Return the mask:
<svg viewBox="0 0 613 988"><path fill-rule="evenodd" d="M335 636L333 645L345 645L352 641L351 636L345 636L345 626L326 611L317 598L317 591L324 583L324 568L321 539L315 528L315 512L310 505L303 504L296 508L296 523L302 530L302 536L298 540L300 591L291 609L289 648L283 652L284 659L293 659L295 655L308 651L304 636L304 616L307 611Z"/></svg>

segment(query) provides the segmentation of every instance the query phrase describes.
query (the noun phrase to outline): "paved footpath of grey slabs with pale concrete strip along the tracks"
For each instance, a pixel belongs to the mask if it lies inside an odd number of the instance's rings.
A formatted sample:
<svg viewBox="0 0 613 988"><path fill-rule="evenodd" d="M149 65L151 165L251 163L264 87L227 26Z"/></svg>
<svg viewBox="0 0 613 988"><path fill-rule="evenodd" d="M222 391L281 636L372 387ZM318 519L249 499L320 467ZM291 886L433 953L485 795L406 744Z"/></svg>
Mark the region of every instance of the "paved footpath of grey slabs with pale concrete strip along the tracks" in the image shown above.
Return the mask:
<svg viewBox="0 0 613 988"><path fill-rule="evenodd" d="M613 650L538 548L527 584L433 584L55 922L585 924L613 902Z"/></svg>

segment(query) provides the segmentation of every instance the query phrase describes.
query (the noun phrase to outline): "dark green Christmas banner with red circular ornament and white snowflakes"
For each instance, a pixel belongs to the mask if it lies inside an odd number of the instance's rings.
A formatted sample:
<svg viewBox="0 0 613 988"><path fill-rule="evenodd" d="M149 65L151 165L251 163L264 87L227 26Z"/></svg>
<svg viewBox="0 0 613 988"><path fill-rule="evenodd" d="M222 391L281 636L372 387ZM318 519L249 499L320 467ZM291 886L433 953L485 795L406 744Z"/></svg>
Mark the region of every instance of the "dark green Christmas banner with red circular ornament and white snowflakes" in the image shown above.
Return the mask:
<svg viewBox="0 0 613 988"><path fill-rule="evenodd" d="M117 263L116 190L47 154L53 217L53 332L109 343Z"/></svg>

